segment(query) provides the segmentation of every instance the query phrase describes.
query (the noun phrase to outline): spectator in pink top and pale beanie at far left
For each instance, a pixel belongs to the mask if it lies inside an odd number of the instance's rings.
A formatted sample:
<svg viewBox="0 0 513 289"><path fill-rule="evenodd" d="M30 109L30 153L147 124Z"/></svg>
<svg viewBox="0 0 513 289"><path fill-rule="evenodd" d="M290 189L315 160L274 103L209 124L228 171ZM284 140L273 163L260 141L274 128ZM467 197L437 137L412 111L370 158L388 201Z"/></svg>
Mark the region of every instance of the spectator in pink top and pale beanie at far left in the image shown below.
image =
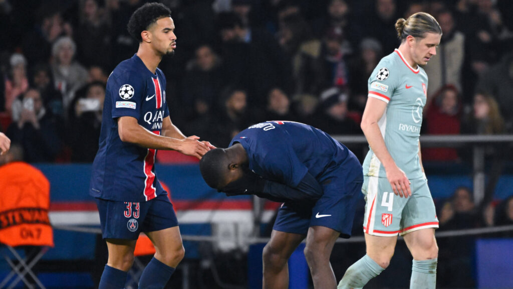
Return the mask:
<svg viewBox="0 0 513 289"><path fill-rule="evenodd" d="M19 96L24 94L28 87L27 60L22 54L13 53L9 60L9 77L5 79L5 111L11 113L12 103Z"/></svg>

